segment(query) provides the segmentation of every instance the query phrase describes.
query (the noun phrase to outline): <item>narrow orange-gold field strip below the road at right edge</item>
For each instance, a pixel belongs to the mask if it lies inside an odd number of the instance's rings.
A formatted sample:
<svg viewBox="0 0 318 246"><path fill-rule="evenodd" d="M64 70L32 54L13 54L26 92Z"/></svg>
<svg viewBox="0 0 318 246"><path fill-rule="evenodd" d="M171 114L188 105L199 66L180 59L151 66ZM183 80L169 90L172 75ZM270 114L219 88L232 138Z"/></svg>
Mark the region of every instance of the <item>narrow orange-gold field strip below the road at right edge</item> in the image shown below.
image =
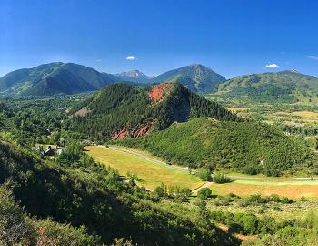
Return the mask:
<svg viewBox="0 0 318 246"><path fill-rule="evenodd" d="M266 196L277 194L292 199L300 199L302 196L309 199L318 197L318 181L264 182L255 180L235 180L226 184L212 184L210 189L220 195L234 193L242 197L251 194L261 194Z"/></svg>

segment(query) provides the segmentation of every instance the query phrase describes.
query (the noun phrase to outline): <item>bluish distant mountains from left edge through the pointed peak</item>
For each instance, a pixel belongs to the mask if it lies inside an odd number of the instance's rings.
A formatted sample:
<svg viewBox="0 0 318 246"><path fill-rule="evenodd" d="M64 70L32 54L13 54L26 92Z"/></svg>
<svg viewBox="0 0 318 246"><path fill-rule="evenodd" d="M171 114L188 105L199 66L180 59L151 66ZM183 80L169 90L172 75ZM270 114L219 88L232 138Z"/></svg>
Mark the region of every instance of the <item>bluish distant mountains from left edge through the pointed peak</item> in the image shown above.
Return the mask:
<svg viewBox="0 0 318 246"><path fill-rule="evenodd" d="M0 77L0 96L67 95L98 90L115 82L131 82L141 85L179 82L194 92L204 93L214 91L216 86L224 80L224 77L202 65L181 67L157 77L148 77L139 70L112 75L74 63L55 62L15 70Z"/></svg>

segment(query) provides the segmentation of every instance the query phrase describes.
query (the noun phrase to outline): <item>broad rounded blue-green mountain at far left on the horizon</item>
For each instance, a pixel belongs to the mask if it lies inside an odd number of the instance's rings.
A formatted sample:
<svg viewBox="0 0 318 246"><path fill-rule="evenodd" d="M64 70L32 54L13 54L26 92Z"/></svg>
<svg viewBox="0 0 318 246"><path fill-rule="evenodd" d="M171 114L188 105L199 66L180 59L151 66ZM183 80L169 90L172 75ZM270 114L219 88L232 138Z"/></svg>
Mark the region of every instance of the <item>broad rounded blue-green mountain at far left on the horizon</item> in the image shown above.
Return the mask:
<svg viewBox="0 0 318 246"><path fill-rule="evenodd" d="M97 90L120 78L74 63L49 63L0 78L0 96L44 96Z"/></svg>

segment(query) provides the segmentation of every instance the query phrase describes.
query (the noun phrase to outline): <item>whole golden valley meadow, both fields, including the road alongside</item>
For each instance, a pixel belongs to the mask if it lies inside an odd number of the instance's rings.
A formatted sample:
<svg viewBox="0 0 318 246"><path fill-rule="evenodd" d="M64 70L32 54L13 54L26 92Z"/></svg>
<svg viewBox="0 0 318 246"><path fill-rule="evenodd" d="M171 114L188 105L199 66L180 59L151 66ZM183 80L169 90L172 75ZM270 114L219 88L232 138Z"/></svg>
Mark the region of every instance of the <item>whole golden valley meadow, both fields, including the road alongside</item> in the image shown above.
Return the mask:
<svg viewBox="0 0 318 246"><path fill-rule="evenodd" d="M154 190L161 183L167 186L188 187L194 194L202 187L209 187L218 195L234 193L238 196L251 194L286 196L292 199L318 198L318 180L314 178L261 178L229 175L233 182L216 184L204 182L180 166L167 165L164 160L139 149L119 146L87 146L87 153L107 166L118 169L120 175L128 172L138 177L137 183Z"/></svg>

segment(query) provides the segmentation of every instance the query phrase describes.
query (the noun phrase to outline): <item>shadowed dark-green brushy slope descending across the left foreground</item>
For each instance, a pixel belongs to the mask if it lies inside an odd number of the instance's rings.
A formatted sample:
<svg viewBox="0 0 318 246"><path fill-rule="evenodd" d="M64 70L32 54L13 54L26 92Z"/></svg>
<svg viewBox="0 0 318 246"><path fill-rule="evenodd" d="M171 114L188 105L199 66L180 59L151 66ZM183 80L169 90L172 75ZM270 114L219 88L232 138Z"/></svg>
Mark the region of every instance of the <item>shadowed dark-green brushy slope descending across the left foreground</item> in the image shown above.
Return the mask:
<svg viewBox="0 0 318 246"><path fill-rule="evenodd" d="M114 238L138 245L237 243L197 213L189 216L157 206L154 194L123 183L114 169L97 165L76 144L53 162L1 142L0 160L0 184L9 181L15 200L21 200L26 212L74 227L84 225L87 233L97 236L95 240L101 238L97 245ZM82 234L83 241L94 240L85 231L69 233Z"/></svg>

